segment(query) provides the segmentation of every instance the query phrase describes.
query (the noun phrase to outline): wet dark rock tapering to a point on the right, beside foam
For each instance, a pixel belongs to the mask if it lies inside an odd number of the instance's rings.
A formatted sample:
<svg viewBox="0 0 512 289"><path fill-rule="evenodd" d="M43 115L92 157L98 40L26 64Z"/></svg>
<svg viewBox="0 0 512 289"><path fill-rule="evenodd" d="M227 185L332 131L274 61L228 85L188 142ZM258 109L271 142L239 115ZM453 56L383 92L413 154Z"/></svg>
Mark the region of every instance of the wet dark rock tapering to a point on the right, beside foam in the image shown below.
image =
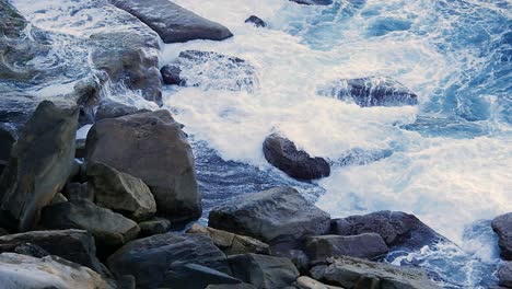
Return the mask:
<svg viewBox="0 0 512 289"><path fill-rule="evenodd" d="M402 211L376 211L363 216L351 216L335 219L331 224L335 234L377 233L387 246L399 246L411 251L438 242L449 242L447 239L430 229L414 215Z"/></svg>

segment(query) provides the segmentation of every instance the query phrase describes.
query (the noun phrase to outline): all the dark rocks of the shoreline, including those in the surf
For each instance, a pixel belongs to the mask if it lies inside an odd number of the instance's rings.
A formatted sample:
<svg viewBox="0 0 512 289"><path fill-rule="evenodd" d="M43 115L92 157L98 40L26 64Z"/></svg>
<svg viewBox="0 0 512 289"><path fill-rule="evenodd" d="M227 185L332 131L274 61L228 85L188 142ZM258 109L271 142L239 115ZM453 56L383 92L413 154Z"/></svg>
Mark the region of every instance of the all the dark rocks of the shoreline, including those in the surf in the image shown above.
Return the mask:
<svg viewBox="0 0 512 289"><path fill-rule="evenodd" d="M2 288L441 288L418 266L383 262L394 250L451 244L406 212L331 219L295 188L275 187L231 198L209 212L208 227L196 223L201 192L184 125L168 111L138 109L102 91L123 82L162 105L163 84L205 86L217 69L236 78L206 89L251 91L258 83L255 68L236 57L187 50L160 70L149 51L161 42L233 34L166 0L110 2L103 4L142 32L90 37L95 81L82 80L72 93L51 100L0 88L7 103L0 107ZM247 22L266 26L254 15ZM20 45L28 22L5 0L0 24L8 36L0 39L0 81L35 85L37 68L28 63L45 56L45 43L36 38L31 51ZM26 66L14 66L19 61ZM201 76L194 74L198 68ZM38 76L60 73L50 72ZM359 106L418 104L400 83L373 76L336 80L319 91ZM92 127L79 142L77 130L86 124ZM278 132L261 151L271 165L304 182L328 176L335 162L312 157ZM491 226L503 258L499 286L512 288L512 212Z"/></svg>

